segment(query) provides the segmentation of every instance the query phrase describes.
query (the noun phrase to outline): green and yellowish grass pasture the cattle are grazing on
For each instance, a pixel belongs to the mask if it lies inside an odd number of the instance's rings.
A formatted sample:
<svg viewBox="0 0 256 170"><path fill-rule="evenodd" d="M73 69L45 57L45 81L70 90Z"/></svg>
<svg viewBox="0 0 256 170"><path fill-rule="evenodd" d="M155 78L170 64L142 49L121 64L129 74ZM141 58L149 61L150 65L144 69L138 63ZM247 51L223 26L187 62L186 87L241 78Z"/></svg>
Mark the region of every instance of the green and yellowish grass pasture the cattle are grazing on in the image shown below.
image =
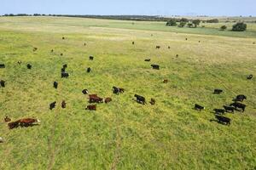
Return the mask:
<svg viewBox="0 0 256 170"><path fill-rule="evenodd" d="M0 88L0 169L256 168L256 80L247 81L256 76L256 25L232 32L209 24L189 29L131 23L0 17L0 63L6 65L0 69L6 81ZM64 64L67 79L61 79ZM125 94L112 94L113 86ZM84 88L113 101L85 111ZM214 88L224 94L212 94ZM154 98L156 105L139 105L134 94ZM212 109L229 105L237 94L247 95L246 111L226 114L230 126L210 122ZM53 101L57 107L49 111ZM195 111L195 103L206 110ZM9 130L6 115L41 123Z"/></svg>

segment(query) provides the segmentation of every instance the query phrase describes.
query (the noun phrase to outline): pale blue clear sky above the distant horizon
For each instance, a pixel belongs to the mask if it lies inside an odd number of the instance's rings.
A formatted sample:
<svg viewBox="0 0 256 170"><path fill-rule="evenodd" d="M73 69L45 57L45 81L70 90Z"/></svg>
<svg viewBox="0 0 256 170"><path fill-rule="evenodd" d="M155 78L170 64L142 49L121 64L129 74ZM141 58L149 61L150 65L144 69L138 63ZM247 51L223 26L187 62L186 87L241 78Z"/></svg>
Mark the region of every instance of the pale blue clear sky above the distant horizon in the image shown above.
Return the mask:
<svg viewBox="0 0 256 170"><path fill-rule="evenodd" d="M0 14L256 16L256 0L0 0Z"/></svg>

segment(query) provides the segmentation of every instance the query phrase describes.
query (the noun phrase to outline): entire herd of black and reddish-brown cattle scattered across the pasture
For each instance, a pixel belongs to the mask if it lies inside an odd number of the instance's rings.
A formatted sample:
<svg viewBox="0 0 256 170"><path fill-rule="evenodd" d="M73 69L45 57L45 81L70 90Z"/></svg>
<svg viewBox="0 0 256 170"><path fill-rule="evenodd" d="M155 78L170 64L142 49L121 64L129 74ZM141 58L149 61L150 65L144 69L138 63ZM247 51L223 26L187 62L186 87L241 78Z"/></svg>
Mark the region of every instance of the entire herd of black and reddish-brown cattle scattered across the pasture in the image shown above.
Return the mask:
<svg viewBox="0 0 256 170"><path fill-rule="evenodd" d="M65 40L65 37L62 37L62 39ZM188 39L186 38L186 41L187 40ZM132 42L132 44L134 45L135 42ZM84 46L85 45L86 45L86 43L84 43ZM168 48L170 48L170 46L168 46ZM156 46L156 49L160 49L160 46ZM37 50L38 50L38 48L33 48L34 52L37 51ZM51 49L50 52L53 53L54 50ZM61 54L61 55L63 55L63 54ZM178 54L176 55L176 57L178 57ZM94 57L90 55L89 59L93 60ZM151 59L144 59L144 61L146 61L146 62L149 62L150 60ZM21 61L18 61L18 64L21 65ZM154 70L160 70L160 65L152 64L151 66ZM26 67L29 70L32 69L31 64L27 64ZM5 68L5 65L0 64L0 69L4 69L4 68ZM69 77L69 74L66 70L67 70L67 64L62 65L61 78L68 78ZM88 67L86 69L86 72L90 73L90 71L91 71L91 69L90 69L90 67ZM253 79L253 75L249 75L247 77L247 80L251 80L251 79ZM164 80L163 82L167 83L168 80ZM58 88L58 82L54 82L53 87ZM5 81L0 80L0 88L5 88ZM83 94L88 94L88 96L89 96L88 99L89 99L90 105L87 105L85 110L96 111L96 104L103 103L103 101L106 104L108 104L109 102L112 101L112 99L109 98L109 97L107 97L106 99L103 99L103 98L99 97L97 94L89 94L88 89L82 90L82 93ZM123 93L125 93L124 88L113 87L113 94L123 94ZM222 93L223 93L222 89L214 89L214 92L213 92L213 94L222 94ZM137 103L142 104L142 105L146 104L146 99L143 96L135 94L134 97L135 97L134 100L137 101ZM240 94L240 95L237 95L235 99L233 99L233 103L231 103L230 105L224 105L223 109L214 109L213 110L214 111L214 116L217 119L217 122L225 124L225 125L230 125L230 122L231 122L230 118L228 118L226 116L223 116L223 115L226 112L234 113L234 111L242 111L242 112L245 111L246 105L242 104L244 99L247 99L247 97L243 94ZM150 99L149 103L151 105L155 105L155 99ZM91 104L93 104L93 105L91 105ZM55 108L55 105L56 105L56 101L50 103L49 104L49 110L53 110ZM65 109L66 105L67 105L66 101L62 100L61 108ZM201 111L201 110L204 110L205 107L201 106L201 105L198 105L198 104L195 104L194 109L198 110L198 111ZM216 121L216 120L211 120L211 121ZM40 122L40 121L38 119L33 119L33 118L23 118L23 119L15 121L15 122L11 122L11 119L8 116L6 116L4 118L4 122L9 122L8 123L9 129L13 129L15 127L29 127L29 126L37 125L37 124L34 124L34 123L35 122ZM0 143L2 143L2 142L3 142L3 139L0 137Z"/></svg>

